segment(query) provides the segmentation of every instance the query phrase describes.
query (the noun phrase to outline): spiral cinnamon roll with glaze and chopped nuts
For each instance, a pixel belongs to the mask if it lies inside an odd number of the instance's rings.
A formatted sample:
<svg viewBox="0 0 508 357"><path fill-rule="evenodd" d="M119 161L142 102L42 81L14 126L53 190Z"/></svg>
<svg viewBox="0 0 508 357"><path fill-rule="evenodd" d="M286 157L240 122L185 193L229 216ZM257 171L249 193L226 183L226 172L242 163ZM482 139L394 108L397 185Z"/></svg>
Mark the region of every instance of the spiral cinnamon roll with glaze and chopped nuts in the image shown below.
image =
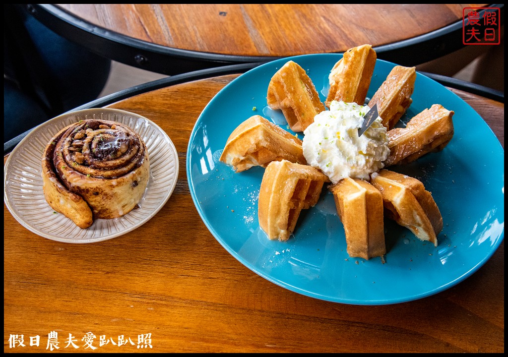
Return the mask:
<svg viewBox="0 0 508 357"><path fill-rule="evenodd" d="M141 200L149 161L141 137L126 125L82 120L63 128L42 159L44 196L80 228L121 217Z"/></svg>

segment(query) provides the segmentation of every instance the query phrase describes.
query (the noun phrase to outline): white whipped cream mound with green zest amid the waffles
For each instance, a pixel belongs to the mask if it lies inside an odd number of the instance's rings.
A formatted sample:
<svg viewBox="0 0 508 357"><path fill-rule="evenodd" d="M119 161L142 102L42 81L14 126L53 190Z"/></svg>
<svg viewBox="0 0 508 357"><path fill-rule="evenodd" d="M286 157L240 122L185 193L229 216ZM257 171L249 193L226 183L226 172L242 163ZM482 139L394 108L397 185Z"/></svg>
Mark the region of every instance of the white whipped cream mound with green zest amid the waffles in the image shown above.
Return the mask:
<svg viewBox="0 0 508 357"><path fill-rule="evenodd" d="M320 169L332 183L345 177L369 179L390 154L386 127L377 117L358 137L368 106L333 101L330 110L314 117L303 132L307 164Z"/></svg>

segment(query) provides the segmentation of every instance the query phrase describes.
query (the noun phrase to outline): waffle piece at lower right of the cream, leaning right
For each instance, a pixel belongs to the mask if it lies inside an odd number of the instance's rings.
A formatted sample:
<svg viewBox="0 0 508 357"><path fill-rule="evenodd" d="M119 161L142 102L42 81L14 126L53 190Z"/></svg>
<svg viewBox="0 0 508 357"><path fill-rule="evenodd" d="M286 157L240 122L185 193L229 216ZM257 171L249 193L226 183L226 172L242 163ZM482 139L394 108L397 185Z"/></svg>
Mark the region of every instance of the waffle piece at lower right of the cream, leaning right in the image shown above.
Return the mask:
<svg viewBox="0 0 508 357"><path fill-rule="evenodd" d="M415 178L389 170L371 175L370 182L383 196L385 213L422 241L437 246L443 220L432 194Z"/></svg>

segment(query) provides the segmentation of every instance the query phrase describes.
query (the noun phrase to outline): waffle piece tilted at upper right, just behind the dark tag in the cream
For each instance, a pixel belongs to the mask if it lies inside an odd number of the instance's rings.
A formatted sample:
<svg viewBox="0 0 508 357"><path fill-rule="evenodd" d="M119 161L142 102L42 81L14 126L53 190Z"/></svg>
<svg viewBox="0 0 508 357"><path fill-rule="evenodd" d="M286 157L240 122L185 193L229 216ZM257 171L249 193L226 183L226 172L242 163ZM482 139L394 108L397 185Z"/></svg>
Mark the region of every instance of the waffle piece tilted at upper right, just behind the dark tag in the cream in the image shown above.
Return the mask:
<svg viewBox="0 0 508 357"><path fill-rule="evenodd" d="M395 127L397 121L411 105L415 80L415 67L396 66L369 101L370 108L377 104L377 111L387 130Z"/></svg>

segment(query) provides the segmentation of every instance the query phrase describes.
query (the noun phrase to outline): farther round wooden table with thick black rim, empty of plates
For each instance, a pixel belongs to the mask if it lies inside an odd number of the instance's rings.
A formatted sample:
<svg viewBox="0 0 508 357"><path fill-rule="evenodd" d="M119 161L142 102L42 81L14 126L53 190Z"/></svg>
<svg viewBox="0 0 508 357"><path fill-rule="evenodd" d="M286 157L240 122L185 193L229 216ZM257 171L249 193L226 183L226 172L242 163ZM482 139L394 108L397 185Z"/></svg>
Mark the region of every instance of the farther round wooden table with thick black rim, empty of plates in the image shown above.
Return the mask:
<svg viewBox="0 0 508 357"><path fill-rule="evenodd" d="M340 53L365 43L375 48L380 59L415 66L463 48L463 8L486 5L25 4L19 7L57 34L98 54L130 66L174 75L299 54Z"/></svg>

